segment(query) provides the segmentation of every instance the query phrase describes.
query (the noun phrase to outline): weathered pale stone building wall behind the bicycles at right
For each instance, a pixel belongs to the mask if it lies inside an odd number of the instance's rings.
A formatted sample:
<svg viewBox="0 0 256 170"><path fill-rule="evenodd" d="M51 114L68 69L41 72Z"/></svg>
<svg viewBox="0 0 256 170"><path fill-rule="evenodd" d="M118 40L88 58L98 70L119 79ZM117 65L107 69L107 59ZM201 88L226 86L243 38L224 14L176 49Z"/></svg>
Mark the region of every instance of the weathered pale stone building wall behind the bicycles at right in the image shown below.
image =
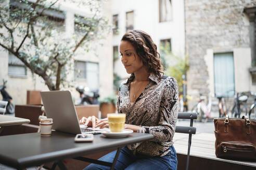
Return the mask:
<svg viewBox="0 0 256 170"><path fill-rule="evenodd" d="M188 102L190 109L200 94L216 96L214 58L219 54L233 58L234 91L256 91L249 72L253 62L250 21L244 12L255 4L255 0L185 0L185 50L190 65L187 93L193 96Z"/></svg>

